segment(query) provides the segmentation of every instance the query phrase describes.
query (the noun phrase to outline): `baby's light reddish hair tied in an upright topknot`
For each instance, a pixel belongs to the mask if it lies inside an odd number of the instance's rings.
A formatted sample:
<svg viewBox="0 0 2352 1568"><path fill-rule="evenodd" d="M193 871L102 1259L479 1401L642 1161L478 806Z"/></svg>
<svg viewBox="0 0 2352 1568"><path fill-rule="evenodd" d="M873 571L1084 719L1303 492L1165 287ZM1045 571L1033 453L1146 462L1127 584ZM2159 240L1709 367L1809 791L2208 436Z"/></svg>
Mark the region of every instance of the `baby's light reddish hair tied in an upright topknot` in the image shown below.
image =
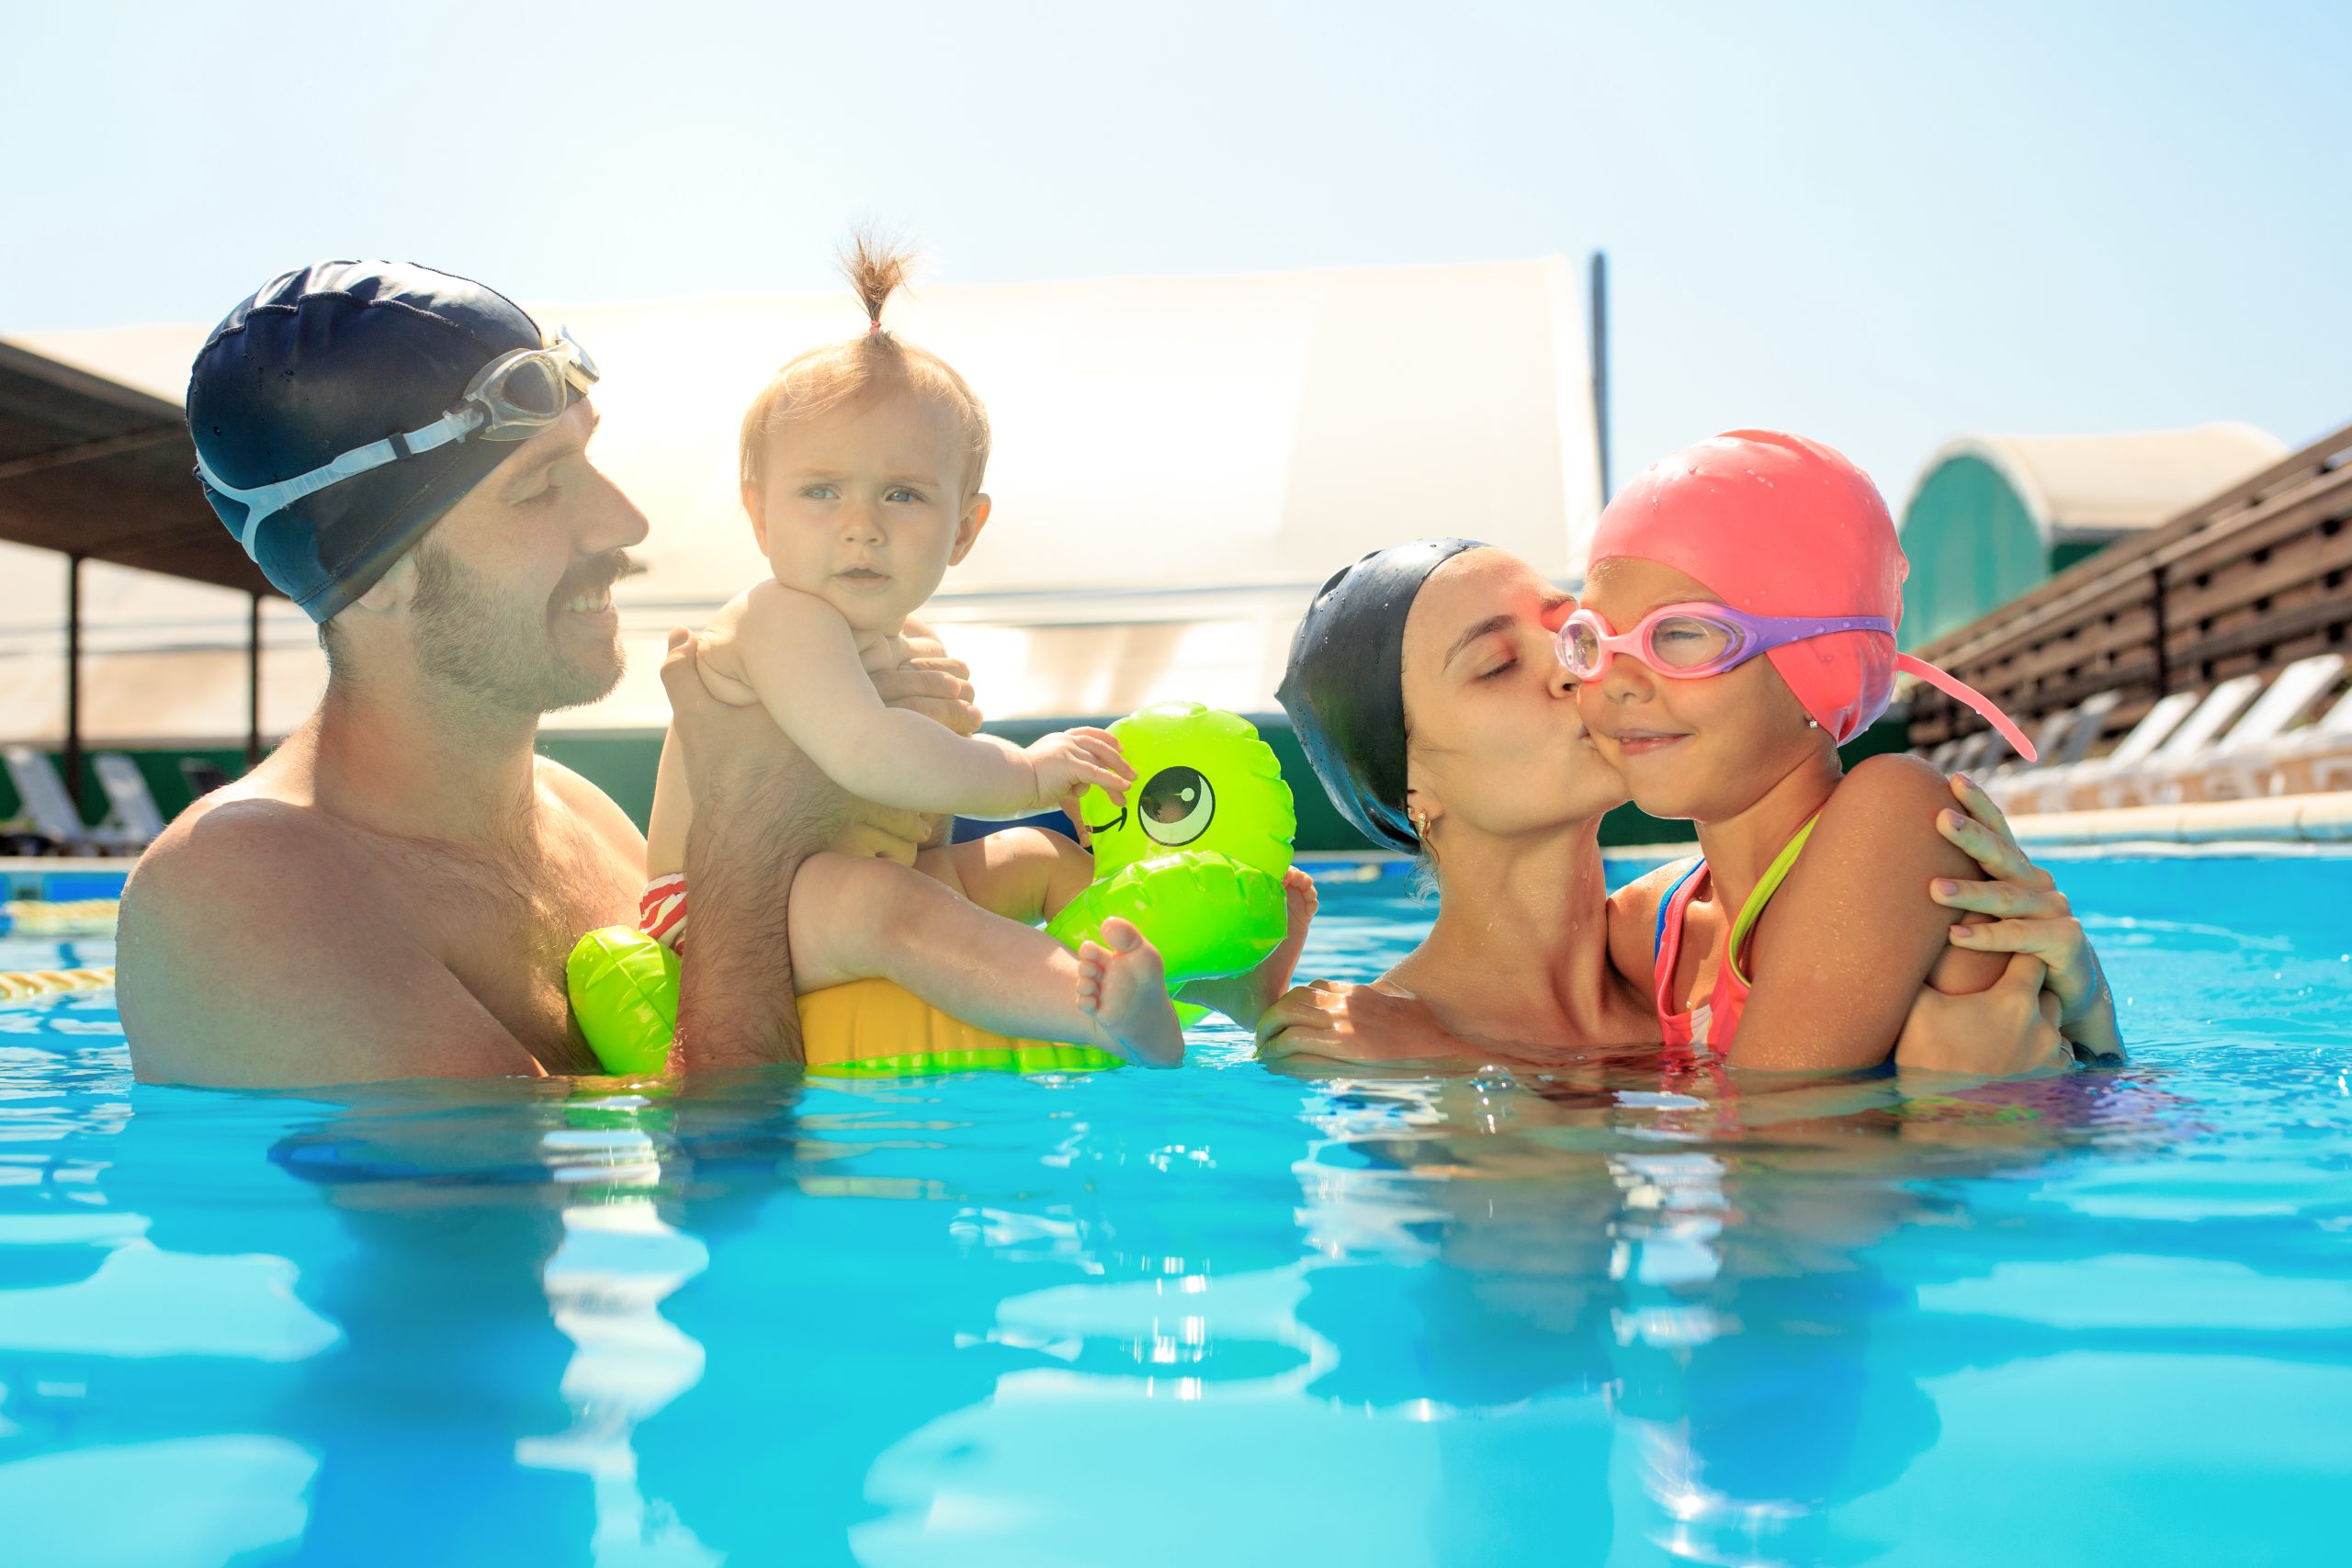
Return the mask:
<svg viewBox="0 0 2352 1568"><path fill-rule="evenodd" d="M746 496L760 494L767 482L767 451L793 421L887 390L908 390L948 404L964 430L964 496L978 494L988 473L988 409L955 367L882 324L882 306L906 287L913 270L913 252L866 228L849 235L849 244L842 247L842 273L866 308L866 331L793 355L753 397L743 414L739 449Z"/></svg>

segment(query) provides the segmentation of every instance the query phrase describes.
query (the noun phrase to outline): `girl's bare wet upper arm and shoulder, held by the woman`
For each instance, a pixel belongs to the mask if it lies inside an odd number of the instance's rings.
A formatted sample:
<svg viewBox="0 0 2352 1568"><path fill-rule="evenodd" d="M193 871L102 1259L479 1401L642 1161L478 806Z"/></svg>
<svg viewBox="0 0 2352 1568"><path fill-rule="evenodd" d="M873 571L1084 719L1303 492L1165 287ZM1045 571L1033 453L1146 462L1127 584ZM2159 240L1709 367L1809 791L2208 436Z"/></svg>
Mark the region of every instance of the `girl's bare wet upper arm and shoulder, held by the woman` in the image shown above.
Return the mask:
<svg viewBox="0 0 2352 1568"><path fill-rule="evenodd" d="M1867 757L1837 785L1757 924L1736 1067L1884 1063L1929 973L1945 994L2002 978L2006 954L1952 947L1952 914L1929 898L1936 877L1983 877L1936 832L1947 802L1943 773L1917 757Z"/></svg>

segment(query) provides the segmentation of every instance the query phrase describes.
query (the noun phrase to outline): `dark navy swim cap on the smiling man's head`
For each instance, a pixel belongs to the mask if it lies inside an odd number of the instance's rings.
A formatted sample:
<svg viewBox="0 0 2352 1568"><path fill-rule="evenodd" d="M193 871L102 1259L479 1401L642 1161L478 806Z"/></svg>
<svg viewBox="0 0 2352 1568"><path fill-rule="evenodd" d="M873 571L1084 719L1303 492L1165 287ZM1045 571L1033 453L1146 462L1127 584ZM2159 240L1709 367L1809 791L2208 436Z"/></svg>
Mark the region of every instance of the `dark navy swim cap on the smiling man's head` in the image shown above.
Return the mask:
<svg viewBox="0 0 2352 1568"><path fill-rule="evenodd" d="M515 301L466 277L320 261L261 284L212 329L188 371L188 433L223 484L259 489L440 418L485 364L539 346ZM261 522L254 562L325 621L513 454L463 440L329 484ZM205 498L242 536L245 505L209 484Z"/></svg>

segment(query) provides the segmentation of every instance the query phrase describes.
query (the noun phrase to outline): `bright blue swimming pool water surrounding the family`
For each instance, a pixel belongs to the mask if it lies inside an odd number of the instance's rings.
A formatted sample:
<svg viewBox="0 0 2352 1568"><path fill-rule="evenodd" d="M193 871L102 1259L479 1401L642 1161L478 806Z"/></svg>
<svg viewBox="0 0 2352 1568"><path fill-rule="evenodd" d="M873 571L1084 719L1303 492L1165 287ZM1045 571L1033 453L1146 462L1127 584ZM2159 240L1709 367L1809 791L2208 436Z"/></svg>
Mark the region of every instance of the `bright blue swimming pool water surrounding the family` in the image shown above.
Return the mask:
<svg viewBox="0 0 2352 1568"><path fill-rule="evenodd" d="M2060 875L2138 1058L1910 1105L1230 1030L212 1093L14 1006L0 1561L2340 1561L2352 860ZM1308 969L1404 952L1397 889Z"/></svg>

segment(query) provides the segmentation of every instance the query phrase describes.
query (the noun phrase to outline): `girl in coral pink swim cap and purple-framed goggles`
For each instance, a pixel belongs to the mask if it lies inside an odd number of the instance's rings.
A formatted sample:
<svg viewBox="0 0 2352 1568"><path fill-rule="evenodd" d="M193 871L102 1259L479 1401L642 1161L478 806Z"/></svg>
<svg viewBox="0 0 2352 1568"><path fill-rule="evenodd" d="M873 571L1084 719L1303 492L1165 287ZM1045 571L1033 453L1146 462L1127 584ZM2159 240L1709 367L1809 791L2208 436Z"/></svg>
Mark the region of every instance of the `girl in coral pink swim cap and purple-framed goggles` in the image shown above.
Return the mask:
<svg viewBox="0 0 2352 1568"><path fill-rule="evenodd" d="M1795 435L1677 451L1602 512L1559 656L1635 804L1698 825L1703 858L1658 889L1649 980L1668 1044L1863 1067L1886 1060L1922 980L1962 994L2002 976L2002 954L1950 945L1966 938L1926 896L1980 877L1936 832L1943 776L1917 757L1853 773L1837 759L1898 670L2032 757L1983 696L1896 654L1905 571L1867 475Z"/></svg>

